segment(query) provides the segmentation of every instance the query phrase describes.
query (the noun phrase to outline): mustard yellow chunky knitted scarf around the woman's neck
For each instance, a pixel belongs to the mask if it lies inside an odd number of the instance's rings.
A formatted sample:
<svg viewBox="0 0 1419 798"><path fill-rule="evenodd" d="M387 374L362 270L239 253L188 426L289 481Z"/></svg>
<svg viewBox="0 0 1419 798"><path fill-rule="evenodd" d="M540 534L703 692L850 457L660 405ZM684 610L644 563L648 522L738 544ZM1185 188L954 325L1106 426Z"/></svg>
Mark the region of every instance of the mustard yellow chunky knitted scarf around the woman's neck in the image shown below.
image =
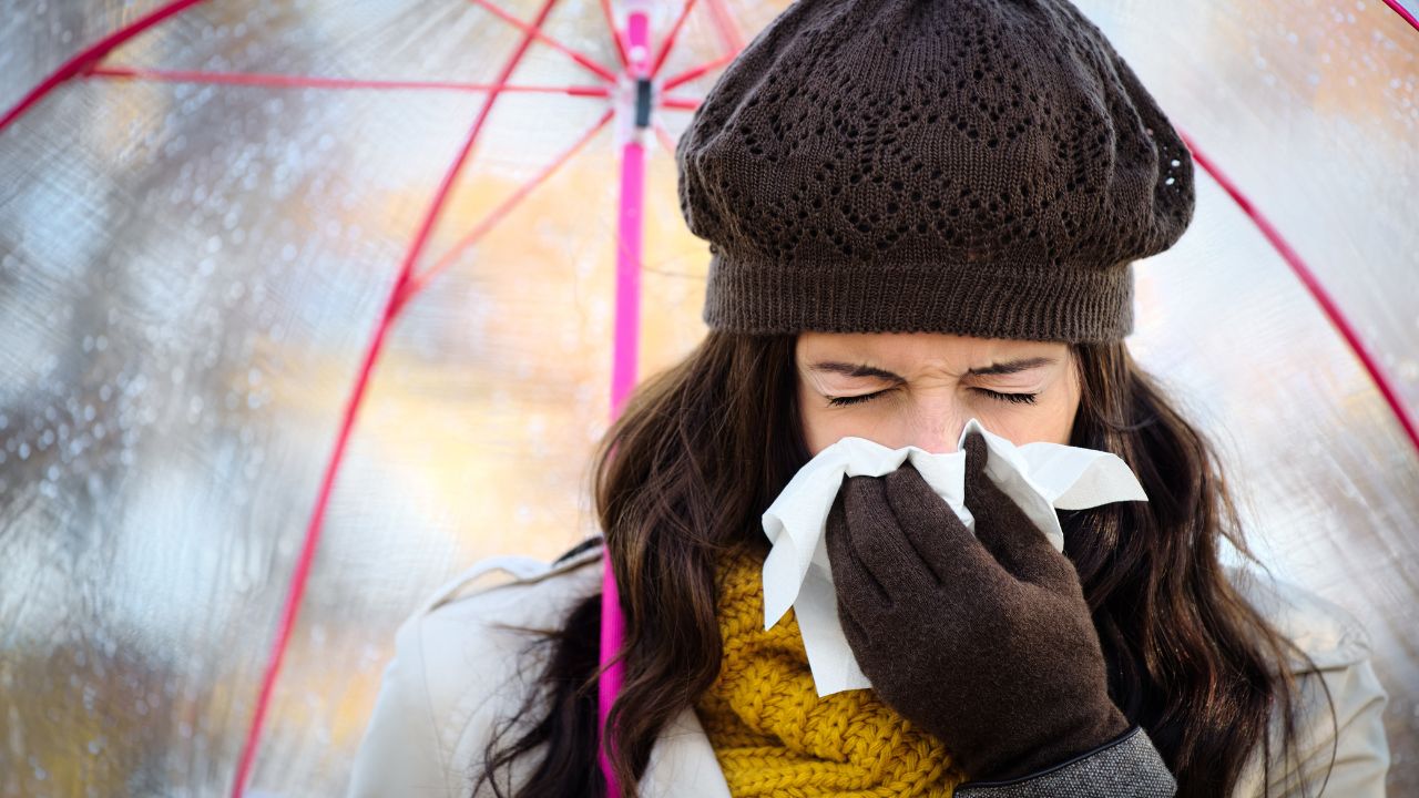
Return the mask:
<svg viewBox="0 0 1419 798"><path fill-rule="evenodd" d="M729 792L752 795L946 797L965 781L941 741L873 690L819 697L797 618L763 630L763 562L719 562L724 660L695 701Z"/></svg>

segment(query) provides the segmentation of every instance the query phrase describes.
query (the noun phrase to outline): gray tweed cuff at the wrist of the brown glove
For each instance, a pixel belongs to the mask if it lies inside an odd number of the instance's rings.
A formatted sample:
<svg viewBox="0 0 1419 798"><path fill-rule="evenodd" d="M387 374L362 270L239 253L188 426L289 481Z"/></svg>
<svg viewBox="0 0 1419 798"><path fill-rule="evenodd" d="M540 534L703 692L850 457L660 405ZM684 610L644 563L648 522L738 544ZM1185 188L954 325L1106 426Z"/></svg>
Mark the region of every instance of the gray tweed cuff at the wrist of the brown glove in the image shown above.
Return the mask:
<svg viewBox="0 0 1419 798"><path fill-rule="evenodd" d="M1176 792L1178 782L1141 726L1049 770L1010 781L968 781L955 789L959 798L1171 798Z"/></svg>

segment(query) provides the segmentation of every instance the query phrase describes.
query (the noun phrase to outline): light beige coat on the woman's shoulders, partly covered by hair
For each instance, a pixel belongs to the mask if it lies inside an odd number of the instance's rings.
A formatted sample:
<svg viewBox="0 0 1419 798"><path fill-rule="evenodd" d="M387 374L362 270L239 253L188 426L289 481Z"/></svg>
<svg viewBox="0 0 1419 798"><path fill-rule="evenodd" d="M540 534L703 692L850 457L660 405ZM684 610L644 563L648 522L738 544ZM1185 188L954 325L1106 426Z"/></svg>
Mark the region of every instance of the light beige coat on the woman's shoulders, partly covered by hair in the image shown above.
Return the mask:
<svg viewBox="0 0 1419 798"><path fill-rule="evenodd" d="M518 672L518 653L526 638L490 625L558 628L578 599L600 589L600 562L599 547L555 567L525 557L490 558L430 596L399 629L394 659L385 670L348 795L467 798L473 784L467 774L482 754L494 718L505 717L525 696L519 677L526 673ZM494 571L505 571L512 579L473 588L475 579ZM1324 682L1335 700L1340 728L1335 767L1324 794L1385 795L1389 747L1381 713L1388 694L1371 669L1364 628L1340 606L1294 585L1261 581L1252 571L1229 575L1321 667L1300 677L1307 707L1301 716L1304 775L1324 772L1337 740L1321 690ZM1290 667L1298 673L1301 663ZM1274 724L1273 733L1279 734ZM1257 757L1235 797L1261 795ZM1294 780L1283 784L1273 777L1271 795L1296 794ZM1315 794L1314 787L1310 794ZM492 792L484 785L478 795ZM661 733L641 795L729 798L692 710Z"/></svg>

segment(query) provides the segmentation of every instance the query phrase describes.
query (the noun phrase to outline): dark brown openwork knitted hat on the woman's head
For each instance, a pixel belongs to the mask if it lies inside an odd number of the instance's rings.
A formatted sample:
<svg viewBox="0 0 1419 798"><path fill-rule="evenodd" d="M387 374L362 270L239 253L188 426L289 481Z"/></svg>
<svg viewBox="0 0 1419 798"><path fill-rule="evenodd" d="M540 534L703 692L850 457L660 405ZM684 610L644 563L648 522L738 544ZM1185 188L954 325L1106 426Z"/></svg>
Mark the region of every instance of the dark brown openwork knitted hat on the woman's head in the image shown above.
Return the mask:
<svg viewBox="0 0 1419 798"><path fill-rule="evenodd" d="M1192 156L1066 0L796 0L675 149L739 332L1117 341Z"/></svg>

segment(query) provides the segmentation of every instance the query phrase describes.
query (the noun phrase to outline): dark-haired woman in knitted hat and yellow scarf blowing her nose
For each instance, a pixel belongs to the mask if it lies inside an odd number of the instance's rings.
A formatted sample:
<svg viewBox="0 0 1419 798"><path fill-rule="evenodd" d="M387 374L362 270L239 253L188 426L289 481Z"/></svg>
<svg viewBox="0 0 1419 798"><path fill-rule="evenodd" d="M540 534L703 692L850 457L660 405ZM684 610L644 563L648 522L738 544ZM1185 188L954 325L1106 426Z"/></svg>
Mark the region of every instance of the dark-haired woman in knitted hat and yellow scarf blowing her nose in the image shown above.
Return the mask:
<svg viewBox="0 0 1419 798"><path fill-rule="evenodd" d="M677 159L710 334L595 460L604 541L487 561L402 629L352 795L600 795L602 545L626 616L627 794L1382 795L1386 703L1340 608L1249 557L1208 442L1130 358L1132 268L1192 160L1063 0L797 0ZM870 690L819 697L762 629L761 514L856 434L1111 452L1149 500L1061 513L983 476L976 535L910 467L844 481L827 542ZM502 568L508 584L460 596Z"/></svg>

